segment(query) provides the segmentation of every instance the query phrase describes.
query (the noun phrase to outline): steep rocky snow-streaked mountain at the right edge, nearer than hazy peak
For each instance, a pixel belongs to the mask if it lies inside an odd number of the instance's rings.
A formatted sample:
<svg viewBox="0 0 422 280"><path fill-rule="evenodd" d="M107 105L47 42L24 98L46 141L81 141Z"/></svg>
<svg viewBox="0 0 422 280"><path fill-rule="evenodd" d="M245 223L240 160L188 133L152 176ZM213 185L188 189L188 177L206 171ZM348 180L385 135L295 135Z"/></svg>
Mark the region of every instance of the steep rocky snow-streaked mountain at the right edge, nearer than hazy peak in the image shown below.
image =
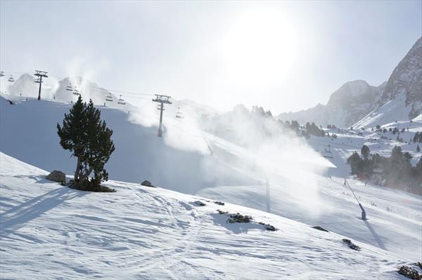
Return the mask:
<svg viewBox="0 0 422 280"><path fill-rule="evenodd" d="M422 114L422 37L395 67L371 114L355 124L373 127L415 119Z"/></svg>

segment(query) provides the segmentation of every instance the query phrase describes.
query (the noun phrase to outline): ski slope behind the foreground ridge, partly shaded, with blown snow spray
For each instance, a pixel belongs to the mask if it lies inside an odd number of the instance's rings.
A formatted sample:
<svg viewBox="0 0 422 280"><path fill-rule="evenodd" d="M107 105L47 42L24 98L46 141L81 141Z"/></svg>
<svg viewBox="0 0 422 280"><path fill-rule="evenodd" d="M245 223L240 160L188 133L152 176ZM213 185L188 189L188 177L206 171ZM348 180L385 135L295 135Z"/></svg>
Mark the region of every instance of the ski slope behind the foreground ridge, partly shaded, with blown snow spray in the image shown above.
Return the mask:
<svg viewBox="0 0 422 280"><path fill-rule="evenodd" d="M9 105L4 100L0 106L1 152L47 171L58 169L73 173L75 159L60 147L56 135L56 123L70 109L69 103L30 99ZM156 111L149 103L140 112L130 114L100 107L101 116L114 131L116 150L106 165L110 179L134 183L150 180L167 189L265 210L264 178L267 177L271 213L327 227L402 258L422 258L421 196L370 184L364 186L351 180L368 212L370 220L365 223L358 219L359 207L350 190L343 186L343 178L350 172L345 159L364 142L371 141L369 135L366 139L366 135L357 135L357 131L353 131L353 135L330 131L337 133L338 139L311 138L309 142L314 149L321 152L331 144L333 150L332 161L338 168L329 169L323 176L317 174L319 168L314 170L312 166L326 161L309 151L307 145L296 145L294 138L277 138L277 143L284 142L266 147L267 153L260 156L262 151L251 152L215 135L193 130L187 125L192 121L189 116L170 118L174 113L172 107L165 112L165 137L157 138L157 112L149 116L152 126L129 121L139 121L138 117L142 119L150 107ZM395 142L376 144L389 152ZM407 149L404 144L402 147ZM409 149L414 151L416 147ZM378 207L371 206L372 202Z"/></svg>

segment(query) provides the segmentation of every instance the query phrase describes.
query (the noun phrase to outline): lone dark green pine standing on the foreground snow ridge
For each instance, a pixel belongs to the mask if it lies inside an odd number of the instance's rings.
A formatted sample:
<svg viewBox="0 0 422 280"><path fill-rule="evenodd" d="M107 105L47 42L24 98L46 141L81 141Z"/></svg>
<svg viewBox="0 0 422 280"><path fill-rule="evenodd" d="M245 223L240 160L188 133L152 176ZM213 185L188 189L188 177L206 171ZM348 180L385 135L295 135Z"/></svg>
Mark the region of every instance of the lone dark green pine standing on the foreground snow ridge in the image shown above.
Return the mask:
<svg viewBox="0 0 422 280"><path fill-rule="evenodd" d="M74 176L77 189L96 190L101 182L108 180L104 165L115 150L111 140L113 131L101 121L101 112L94 107L92 100L87 105L79 95L70 113L65 114L63 127L57 124L57 134L63 149L70 150L77 158ZM94 177L90 180L92 172Z"/></svg>

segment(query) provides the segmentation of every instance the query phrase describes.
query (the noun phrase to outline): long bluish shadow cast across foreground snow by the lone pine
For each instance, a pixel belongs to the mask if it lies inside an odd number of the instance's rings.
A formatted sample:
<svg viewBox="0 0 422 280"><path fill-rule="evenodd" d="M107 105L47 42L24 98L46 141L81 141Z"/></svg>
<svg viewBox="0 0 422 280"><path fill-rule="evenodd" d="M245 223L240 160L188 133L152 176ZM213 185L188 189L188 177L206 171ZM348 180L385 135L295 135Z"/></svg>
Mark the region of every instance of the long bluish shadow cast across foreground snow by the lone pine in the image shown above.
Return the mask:
<svg viewBox="0 0 422 280"><path fill-rule="evenodd" d="M38 218L64 201L84 196L85 194L87 193L68 187L59 187L8 209L8 211L0 215L0 237L8 236L8 234L23 227L27 222Z"/></svg>

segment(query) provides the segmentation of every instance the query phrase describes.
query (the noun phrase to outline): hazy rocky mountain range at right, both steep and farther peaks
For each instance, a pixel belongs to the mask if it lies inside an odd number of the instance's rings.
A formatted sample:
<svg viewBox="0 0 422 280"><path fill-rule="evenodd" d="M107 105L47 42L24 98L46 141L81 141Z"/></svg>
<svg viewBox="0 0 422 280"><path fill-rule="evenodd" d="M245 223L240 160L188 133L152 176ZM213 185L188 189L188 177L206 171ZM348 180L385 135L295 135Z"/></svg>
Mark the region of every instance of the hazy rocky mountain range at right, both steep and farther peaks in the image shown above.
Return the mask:
<svg viewBox="0 0 422 280"><path fill-rule="evenodd" d="M279 115L282 121L313 121L317 125L347 128L376 126L397 120L411 120L422 109L422 38L395 67L388 81L371 86L366 81L349 81L331 94L327 105Z"/></svg>

